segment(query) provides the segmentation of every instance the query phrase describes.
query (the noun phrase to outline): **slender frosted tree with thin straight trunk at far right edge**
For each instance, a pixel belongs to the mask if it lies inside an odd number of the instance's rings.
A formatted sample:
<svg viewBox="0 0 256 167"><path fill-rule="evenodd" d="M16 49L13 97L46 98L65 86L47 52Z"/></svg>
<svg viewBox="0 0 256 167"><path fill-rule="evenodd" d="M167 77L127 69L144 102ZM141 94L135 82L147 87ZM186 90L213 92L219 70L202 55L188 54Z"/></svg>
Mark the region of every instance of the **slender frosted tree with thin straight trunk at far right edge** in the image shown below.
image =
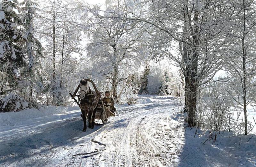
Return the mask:
<svg viewBox="0 0 256 167"><path fill-rule="evenodd" d="M232 3L234 13L231 13L227 22L231 25L229 34L232 36L229 47L229 59L226 70L227 81L231 82L231 90L227 90L232 98L243 107L244 111L244 134L247 129L247 105L252 102L256 95L256 47L255 41L256 10L255 3L251 0L238 0ZM236 93L234 94L233 91ZM242 97L240 101L238 97Z"/></svg>

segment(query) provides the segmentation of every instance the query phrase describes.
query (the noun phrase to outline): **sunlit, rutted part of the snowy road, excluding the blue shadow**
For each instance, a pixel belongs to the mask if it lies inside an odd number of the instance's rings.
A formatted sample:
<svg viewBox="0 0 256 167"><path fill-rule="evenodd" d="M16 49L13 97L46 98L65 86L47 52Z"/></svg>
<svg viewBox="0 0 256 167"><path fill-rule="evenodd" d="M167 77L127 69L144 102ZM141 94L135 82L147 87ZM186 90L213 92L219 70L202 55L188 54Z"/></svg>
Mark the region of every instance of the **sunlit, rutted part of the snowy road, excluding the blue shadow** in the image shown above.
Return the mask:
<svg viewBox="0 0 256 167"><path fill-rule="evenodd" d="M177 140L184 137L175 133L183 128L182 120L172 119L177 110L175 100L161 106L130 107L90 134L57 166L177 166L182 147ZM70 158L74 151L82 154Z"/></svg>

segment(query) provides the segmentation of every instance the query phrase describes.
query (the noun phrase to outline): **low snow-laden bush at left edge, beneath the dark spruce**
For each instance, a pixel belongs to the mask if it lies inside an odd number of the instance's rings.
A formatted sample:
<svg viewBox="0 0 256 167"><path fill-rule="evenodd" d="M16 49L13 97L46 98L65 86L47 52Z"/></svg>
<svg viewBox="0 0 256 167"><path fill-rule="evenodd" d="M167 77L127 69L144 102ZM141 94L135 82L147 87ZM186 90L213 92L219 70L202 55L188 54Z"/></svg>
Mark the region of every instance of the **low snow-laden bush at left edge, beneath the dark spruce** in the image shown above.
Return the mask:
<svg viewBox="0 0 256 167"><path fill-rule="evenodd" d="M35 102L28 102L17 94L10 93L0 98L0 112L20 111L26 108L37 108Z"/></svg>

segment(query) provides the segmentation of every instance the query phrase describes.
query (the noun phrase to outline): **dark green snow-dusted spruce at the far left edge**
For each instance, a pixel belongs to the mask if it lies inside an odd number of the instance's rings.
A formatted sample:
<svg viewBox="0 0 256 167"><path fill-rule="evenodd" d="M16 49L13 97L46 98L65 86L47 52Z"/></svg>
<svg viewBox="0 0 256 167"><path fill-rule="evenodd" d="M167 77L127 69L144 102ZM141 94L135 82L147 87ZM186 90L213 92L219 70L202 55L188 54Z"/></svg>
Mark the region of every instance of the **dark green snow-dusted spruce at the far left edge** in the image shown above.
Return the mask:
<svg viewBox="0 0 256 167"><path fill-rule="evenodd" d="M21 47L22 35L18 27L22 26L18 1L0 2L0 95L6 94L18 85L18 69L25 65ZM9 89L9 90L8 90Z"/></svg>

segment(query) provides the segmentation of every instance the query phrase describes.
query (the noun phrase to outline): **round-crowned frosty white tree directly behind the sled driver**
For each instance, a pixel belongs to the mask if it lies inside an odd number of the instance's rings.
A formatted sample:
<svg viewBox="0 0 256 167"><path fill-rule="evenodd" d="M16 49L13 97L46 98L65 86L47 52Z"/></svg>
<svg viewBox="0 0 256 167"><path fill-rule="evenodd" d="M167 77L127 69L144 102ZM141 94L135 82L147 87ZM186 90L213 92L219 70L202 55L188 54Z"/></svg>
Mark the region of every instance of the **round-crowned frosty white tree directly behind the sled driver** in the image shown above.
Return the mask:
<svg viewBox="0 0 256 167"><path fill-rule="evenodd" d="M102 15L98 5L81 6L89 16L85 30L90 38L87 51L92 62L92 77L109 80L116 99L118 84L131 75L128 71L147 55L140 40L143 34L132 28L133 23L129 20L108 18L114 16L114 12L119 16L130 14L121 1L107 1L106 12Z"/></svg>

